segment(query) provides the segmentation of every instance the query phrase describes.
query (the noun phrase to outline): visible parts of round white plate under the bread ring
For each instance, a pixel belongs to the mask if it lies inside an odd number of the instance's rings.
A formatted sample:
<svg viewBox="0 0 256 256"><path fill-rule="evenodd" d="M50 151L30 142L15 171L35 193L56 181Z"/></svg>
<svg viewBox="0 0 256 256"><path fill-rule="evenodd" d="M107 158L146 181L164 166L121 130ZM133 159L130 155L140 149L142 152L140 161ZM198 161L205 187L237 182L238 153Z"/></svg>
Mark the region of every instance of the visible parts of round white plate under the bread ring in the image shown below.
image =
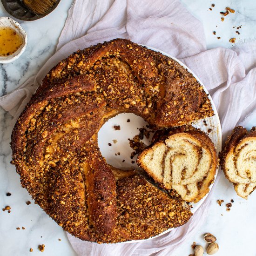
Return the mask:
<svg viewBox="0 0 256 256"><path fill-rule="evenodd" d="M173 60L177 61L182 67L186 68L189 71L189 73L193 74L196 80L204 88L204 91L207 94L209 94L207 89L199 80L199 78L189 69L189 67L183 64L181 61L153 47L148 47L148 49L154 50L156 52L160 52L172 58ZM216 152L218 154L222 148L221 124L220 124L216 107L210 96L209 96L209 100L211 101L212 108L214 110L215 115L209 118L205 118L203 120L195 121L192 125L196 128L200 128L202 131L206 132L209 135L209 137L211 138L211 140L213 141L216 147ZM129 122L127 122L128 119L130 120ZM120 114L108 120L101 127L98 133L98 144L101 149L101 153L106 158L107 162L112 166L120 169L134 169L134 168L139 169L138 166L136 165L136 156L132 160L130 158L131 152L133 152L133 150L129 146L128 138L133 139L135 135L139 134L139 128L143 128L143 127L146 128L147 124L148 123L144 121L141 117L136 116L134 114ZM115 130L114 129L115 125L120 125L121 129ZM209 129L211 129L211 131L208 133ZM150 145L150 140L152 138L152 135L150 136L149 140L146 139L144 136L143 141L147 146ZM114 141L115 142L117 141L117 142L114 143ZM108 143L111 143L111 146L109 146ZM125 160L125 162L123 162L123 160ZM135 161L135 163L132 163L131 161ZM218 169L216 170L216 175L217 173L218 173ZM213 184L210 186L209 189L211 189L212 186ZM191 205L193 205L193 208L191 209L191 212L195 213L196 210L202 205L202 203L206 198L207 198L207 195L204 198L202 198L202 200L200 200L199 202L192 203ZM162 236L168 233L170 230L171 229L168 229L157 236ZM154 236L154 237L157 237L157 236ZM152 238L153 237L148 239L152 239ZM141 241L143 240L128 241L124 243L136 243Z"/></svg>

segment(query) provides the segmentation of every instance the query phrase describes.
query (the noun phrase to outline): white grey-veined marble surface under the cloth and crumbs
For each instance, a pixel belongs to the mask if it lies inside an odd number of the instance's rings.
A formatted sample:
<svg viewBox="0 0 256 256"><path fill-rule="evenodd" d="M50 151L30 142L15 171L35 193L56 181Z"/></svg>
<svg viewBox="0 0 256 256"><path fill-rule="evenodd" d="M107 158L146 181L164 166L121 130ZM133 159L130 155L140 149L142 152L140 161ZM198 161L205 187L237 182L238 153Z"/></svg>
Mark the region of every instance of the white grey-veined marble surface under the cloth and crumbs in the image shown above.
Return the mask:
<svg viewBox="0 0 256 256"><path fill-rule="evenodd" d="M207 47L232 47L229 39L236 37L236 43L256 38L256 1L255 0L182 0L191 13L202 21L205 29ZM211 4L215 3L215 7ZM28 44L25 53L11 64L0 65L0 96L11 92L31 75L36 74L44 62L54 53L58 37L67 17L72 0L62 0L53 13L31 22L20 22L27 31ZM229 14L221 21L219 12L231 7L236 13ZM212 11L209 8L212 8ZM8 16L0 4L0 16ZM241 26L242 25L242 26ZM217 26L217 27L216 27ZM236 34L236 27L240 35ZM233 28L235 27L235 28ZM213 34L216 31L216 35ZM221 39L217 39L220 36ZM0 208L11 207L11 213L0 211L0 256L75 256L65 233L52 221L39 206L35 205L26 189L20 188L19 175L10 165L9 146L11 117L0 109ZM256 117L247 128L256 125ZM6 196L6 193L12 193ZM223 199L220 207L217 199ZM233 199L230 212L225 204ZM26 201L31 201L30 205ZM202 234L211 232L217 237L219 256L256 256L253 243L256 237L256 192L249 200L239 198L233 186L221 175L213 195L209 217L188 243L175 251L175 256L192 253L190 245L195 241L204 245ZM20 227L20 230L16 228ZM22 227L25 227L23 230ZM61 242L58 239L61 238ZM46 245L44 253L37 246ZM29 249L33 248L33 252ZM206 255L206 253L205 253Z"/></svg>

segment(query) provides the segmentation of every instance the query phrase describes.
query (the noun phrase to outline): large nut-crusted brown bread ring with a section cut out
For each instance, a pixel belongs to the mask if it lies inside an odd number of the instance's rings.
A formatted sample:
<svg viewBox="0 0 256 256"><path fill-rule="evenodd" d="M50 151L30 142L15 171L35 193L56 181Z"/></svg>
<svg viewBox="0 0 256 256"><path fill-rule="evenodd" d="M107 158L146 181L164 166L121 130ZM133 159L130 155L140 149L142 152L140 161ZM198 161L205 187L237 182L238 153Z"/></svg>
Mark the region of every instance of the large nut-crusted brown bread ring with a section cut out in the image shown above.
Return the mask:
<svg viewBox="0 0 256 256"><path fill-rule="evenodd" d="M195 77L173 59L125 39L78 50L53 67L13 128L12 163L22 187L82 240L147 239L191 212L135 172L106 162L101 126L134 113L158 128L214 115Z"/></svg>

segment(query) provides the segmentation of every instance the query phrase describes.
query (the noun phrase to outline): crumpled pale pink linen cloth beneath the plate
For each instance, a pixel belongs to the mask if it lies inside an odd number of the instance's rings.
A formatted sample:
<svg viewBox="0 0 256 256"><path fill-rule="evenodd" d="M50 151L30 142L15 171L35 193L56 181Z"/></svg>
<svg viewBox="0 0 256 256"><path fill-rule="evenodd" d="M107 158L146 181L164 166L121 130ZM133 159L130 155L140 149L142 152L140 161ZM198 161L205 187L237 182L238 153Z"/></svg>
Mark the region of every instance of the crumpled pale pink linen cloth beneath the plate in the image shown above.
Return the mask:
<svg viewBox="0 0 256 256"><path fill-rule="evenodd" d="M13 115L14 124L51 67L78 49L118 37L158 48L193 70L215 102L224 138L236 125L256 118L255 42L206 51L202 24L178 0L76 0L56 53L35 77L0 97L0 106ZM79 256L170 255L200 228L210 201L211 192L188 223L148 241L96 244L67 237Z"/></svg>

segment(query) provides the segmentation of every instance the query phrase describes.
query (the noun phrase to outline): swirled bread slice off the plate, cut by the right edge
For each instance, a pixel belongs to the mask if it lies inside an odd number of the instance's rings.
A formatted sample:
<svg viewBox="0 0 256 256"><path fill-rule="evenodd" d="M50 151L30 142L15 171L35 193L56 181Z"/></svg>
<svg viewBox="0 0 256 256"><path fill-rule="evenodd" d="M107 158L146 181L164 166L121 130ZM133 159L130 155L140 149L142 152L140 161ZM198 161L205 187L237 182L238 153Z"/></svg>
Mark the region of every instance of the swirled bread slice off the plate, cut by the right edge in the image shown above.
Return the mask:
<svg viewBox="0 0 256 256"><path fill-rule="evenodd" d="M219 155L222 170L237 195L247 199L256 189L256 127L234 128Z"/></svg>

